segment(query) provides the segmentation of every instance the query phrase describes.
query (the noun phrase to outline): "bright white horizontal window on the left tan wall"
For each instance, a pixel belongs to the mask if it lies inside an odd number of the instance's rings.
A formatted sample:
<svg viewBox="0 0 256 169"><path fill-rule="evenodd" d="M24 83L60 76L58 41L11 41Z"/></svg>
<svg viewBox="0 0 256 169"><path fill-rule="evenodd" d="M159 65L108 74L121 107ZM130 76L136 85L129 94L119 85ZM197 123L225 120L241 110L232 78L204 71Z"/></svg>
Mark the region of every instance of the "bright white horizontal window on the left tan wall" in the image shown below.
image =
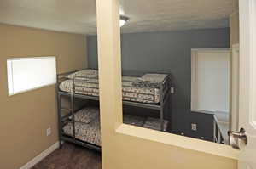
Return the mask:
<svg viewBox="0 0 256 169"><path fill-rule="evenodd" d="M55 57L7 59L9 95L56 82Z"/></svg>

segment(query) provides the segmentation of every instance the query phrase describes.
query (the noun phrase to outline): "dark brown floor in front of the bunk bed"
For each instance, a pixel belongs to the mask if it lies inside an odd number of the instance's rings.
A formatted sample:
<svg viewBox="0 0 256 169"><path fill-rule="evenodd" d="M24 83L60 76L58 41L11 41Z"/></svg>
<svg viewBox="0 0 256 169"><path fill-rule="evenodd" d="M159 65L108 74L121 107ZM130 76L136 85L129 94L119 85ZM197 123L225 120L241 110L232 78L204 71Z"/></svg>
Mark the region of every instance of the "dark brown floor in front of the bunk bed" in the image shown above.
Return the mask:
<svg viewBox="0 0 256 169"><path fill-rule="evenodd" d="M32 169L101 169L101 154L74 144L63 144Z"/></svg>

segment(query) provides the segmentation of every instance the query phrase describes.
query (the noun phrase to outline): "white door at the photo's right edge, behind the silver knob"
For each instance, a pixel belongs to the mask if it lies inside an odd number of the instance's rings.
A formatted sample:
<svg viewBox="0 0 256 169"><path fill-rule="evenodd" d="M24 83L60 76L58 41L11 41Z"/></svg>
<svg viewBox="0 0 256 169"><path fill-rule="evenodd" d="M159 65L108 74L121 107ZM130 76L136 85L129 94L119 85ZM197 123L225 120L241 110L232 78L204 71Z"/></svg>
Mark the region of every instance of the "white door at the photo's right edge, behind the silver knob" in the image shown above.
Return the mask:
<svg viewBox="0 0 256 169"><path fill-rule="evenodd" d="M256 0L240 0L239 169L256 169ZM242 136L242 134L241 134ZM241 137L242 138L242 137Z"/></svg>

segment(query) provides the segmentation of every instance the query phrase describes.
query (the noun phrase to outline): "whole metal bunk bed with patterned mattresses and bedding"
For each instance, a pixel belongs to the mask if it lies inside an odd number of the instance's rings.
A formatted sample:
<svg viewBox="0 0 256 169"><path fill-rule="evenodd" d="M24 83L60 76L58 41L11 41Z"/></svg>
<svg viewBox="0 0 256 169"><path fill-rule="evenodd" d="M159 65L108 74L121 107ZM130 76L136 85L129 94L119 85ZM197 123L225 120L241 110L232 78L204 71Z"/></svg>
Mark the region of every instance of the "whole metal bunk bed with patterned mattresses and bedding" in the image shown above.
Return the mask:
<svg viewBox="0 0 256 169"><path fill-rule="evenodd" d="M74 108L75 98L99 100L97 70L77 70L57 75L56 92L60 144L62 141L68 141L100 151L99 109L90 106L81 110ZM164 115L171 110L171 79L168 74L122 76L122 93L124 105L157 110L160 117L158 120L124 115L124 123L166 131L168 121L164 119ZM62 96L70 99L68 108L62 105ZM63 111L66 114L63 115ZM83 115L87 115L86 118Z"/></svg>

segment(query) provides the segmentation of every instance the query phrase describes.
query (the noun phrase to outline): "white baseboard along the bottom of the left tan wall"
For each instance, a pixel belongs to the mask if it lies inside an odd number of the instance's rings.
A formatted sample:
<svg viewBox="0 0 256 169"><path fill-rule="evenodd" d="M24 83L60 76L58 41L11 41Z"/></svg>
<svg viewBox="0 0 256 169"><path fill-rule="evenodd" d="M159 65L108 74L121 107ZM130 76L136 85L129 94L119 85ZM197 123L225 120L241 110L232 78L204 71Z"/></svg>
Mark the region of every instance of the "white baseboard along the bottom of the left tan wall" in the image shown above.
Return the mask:
<svg viewBox="0 0 256 169"><path fill-rule="evenodd" d="M55 149L58 149L60 142L56 142L55 144L52 144L48 149L44 150L40 155L37 155L35 158L33 158L31 161L28 161L24 166L21 166L20 169L30 169L32 166L35 166L38 164L39 161L42 161L47 155L51 154Z"/></svg>

